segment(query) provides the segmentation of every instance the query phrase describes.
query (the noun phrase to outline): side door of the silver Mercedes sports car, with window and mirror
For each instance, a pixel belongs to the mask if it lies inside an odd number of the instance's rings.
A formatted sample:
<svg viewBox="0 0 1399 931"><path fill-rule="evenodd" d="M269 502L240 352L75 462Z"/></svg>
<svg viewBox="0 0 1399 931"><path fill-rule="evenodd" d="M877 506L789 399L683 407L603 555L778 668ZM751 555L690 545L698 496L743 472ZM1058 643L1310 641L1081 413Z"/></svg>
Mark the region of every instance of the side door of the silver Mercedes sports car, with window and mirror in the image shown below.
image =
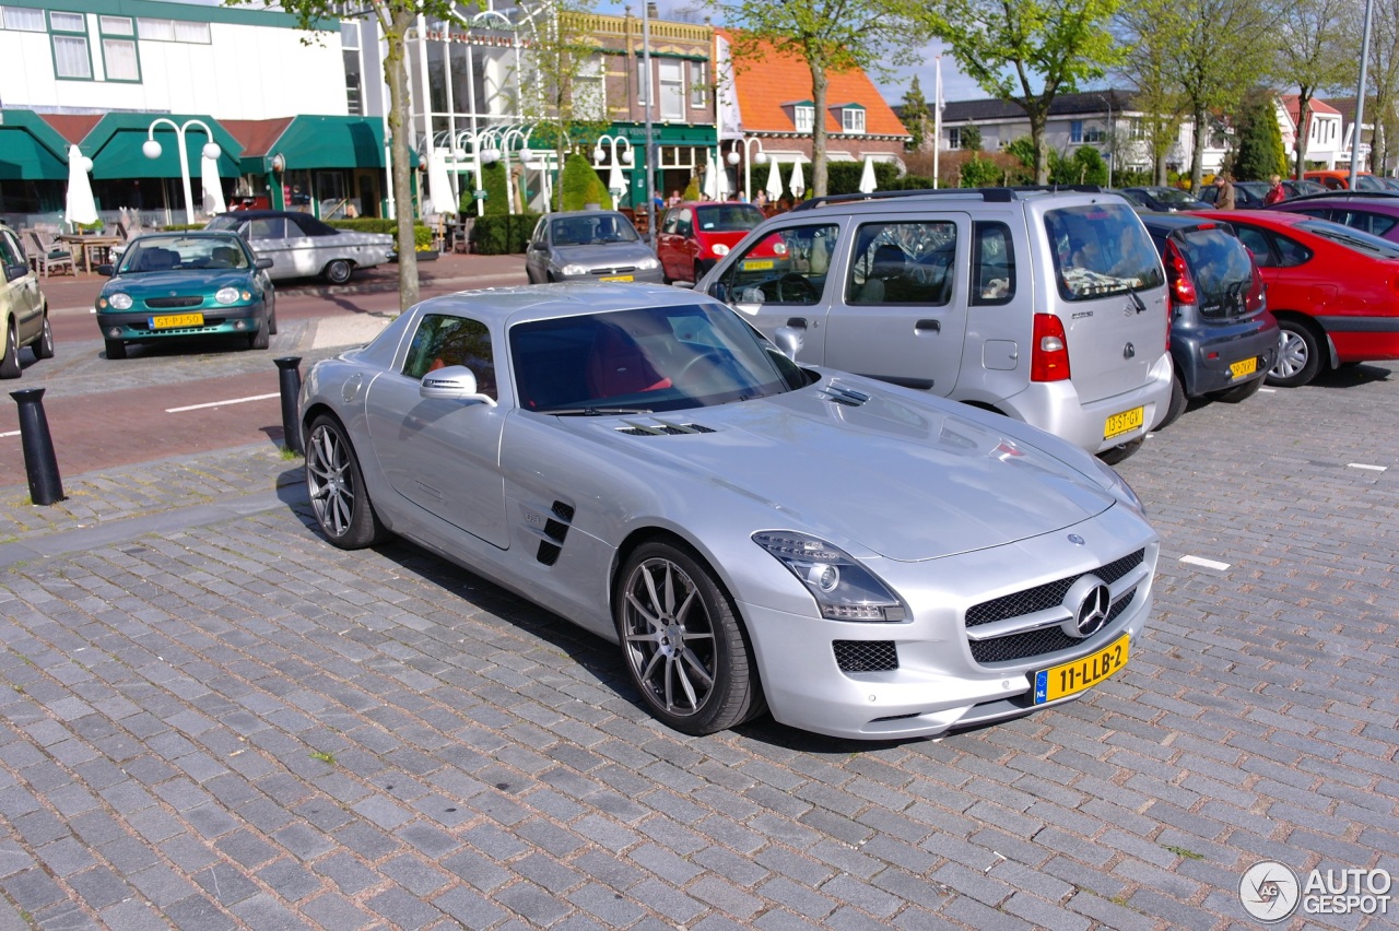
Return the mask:
<svg viewBox="0 0 1399 931"><path fill-rule="evenodd" d="M490 330L470 317L427 313L399 372L374 380L365 398L369 440L395 492L424 516L506 548L501 435L506 405L421 397L422 376L464 365L477 390L497 397Z"/></svg>

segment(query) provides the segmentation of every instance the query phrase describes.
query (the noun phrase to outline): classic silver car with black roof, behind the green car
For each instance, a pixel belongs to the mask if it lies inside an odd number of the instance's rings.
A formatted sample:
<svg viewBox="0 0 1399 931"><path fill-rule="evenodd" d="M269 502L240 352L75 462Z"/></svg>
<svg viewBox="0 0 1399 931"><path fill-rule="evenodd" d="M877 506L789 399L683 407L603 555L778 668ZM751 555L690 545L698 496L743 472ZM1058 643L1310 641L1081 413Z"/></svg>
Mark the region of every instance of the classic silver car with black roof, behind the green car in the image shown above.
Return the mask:
<svg viewBox="0 0 1399 931"><path fill-rule="evenodd" d="M207 229L231 229L271 259L273 281L320 275L344 284L355 268L386 263L393 249L389 233L336 229L297 211L235 210L210 219Z"/></svg>

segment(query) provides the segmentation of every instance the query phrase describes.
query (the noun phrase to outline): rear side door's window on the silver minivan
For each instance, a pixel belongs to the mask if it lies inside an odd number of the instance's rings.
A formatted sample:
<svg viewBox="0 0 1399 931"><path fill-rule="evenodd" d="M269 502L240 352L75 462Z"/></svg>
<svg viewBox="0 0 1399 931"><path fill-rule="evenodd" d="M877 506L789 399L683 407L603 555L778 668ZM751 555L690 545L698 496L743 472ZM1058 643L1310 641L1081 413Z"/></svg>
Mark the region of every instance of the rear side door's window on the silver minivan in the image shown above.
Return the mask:
<svg viewBox="0 0 1399 931"><path fill-rule="evenodd" d="M942 306L951 301L957 224L865 224L845 282L851 305Z"/></svg>

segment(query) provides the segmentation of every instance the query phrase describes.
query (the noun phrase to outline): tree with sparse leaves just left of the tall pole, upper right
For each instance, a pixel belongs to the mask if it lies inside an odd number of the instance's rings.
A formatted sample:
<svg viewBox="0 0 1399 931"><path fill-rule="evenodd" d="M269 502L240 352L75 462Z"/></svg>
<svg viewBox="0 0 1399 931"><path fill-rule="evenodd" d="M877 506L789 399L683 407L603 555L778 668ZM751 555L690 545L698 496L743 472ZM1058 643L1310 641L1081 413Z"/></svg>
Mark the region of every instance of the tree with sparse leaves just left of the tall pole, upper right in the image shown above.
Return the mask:
<svg viewBox="0 0 1399 931"><path fill-rule="evenodd" d="M1307 171L1312 98L1346 81L1354 84L1360 52L1346 38L1350 10L1350 0L1294 0L1279 24L1277 77L1297 88L1295 178Z"/></svg>

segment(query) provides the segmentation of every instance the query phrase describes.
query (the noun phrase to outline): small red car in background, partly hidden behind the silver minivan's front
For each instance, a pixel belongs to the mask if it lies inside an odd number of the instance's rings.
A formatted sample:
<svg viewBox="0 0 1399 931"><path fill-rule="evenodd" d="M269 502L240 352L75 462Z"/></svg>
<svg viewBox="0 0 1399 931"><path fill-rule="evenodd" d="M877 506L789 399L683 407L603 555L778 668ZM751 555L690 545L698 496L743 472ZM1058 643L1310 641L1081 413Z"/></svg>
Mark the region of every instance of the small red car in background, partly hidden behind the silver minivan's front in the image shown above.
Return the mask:
<svg viewBox="0 0 1399 931"><path fill-rule="evenodd" d="M739 201L709 201L676 204L666 211L656 235L656 257L666 284L673 281L700 281L716 261L743 242L748 231L762 222L762 211L753 204ZM753 263L772 261L769 268L786 263L786 245L779 236L769 236L753 250L746 267Z"/></svg>

